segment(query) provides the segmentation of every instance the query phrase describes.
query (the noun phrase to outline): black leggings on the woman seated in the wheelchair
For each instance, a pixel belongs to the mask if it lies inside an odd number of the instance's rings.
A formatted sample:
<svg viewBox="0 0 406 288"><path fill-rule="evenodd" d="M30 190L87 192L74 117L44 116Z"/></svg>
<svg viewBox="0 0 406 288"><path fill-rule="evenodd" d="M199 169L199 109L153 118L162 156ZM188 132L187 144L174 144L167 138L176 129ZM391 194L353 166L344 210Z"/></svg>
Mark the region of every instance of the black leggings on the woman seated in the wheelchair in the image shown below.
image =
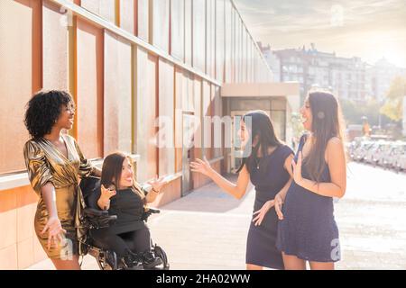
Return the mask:
<svg viewBox="0 0 406 288"><path fill-rule="evenodd" d="M97 241L113 249L117 257L125 257L127 249L134 253L151 251L151 234L147 227L122 234L114 234L105 229L92 230Z"/></svg>

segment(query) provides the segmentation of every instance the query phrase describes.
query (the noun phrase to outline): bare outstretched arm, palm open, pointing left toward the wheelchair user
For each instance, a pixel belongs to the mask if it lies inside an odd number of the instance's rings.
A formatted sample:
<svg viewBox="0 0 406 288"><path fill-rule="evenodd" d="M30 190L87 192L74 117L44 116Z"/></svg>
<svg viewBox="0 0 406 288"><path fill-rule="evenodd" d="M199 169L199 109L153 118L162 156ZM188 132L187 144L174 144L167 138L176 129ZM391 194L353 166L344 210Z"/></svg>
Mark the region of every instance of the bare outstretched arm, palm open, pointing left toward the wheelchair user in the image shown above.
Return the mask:
<svg viewBox="0 0 406 288"><path fill-rule="evenodd" d="M200 160L196 159L197 162L192 162L190 163L191 166L191 171L193 172L198 172L203 175L207 175L210 177L214 183L216 183L222 190L224 190L226 193L231 194L234 196L236 199L241 199L245 195L246 188L248 186L248 182L250 180L250 174L244 166L239 175L236 184L228 181L225 177L222 175L218 174L216 170L214 170L210 164L208 163L208 160Z"/></svg>

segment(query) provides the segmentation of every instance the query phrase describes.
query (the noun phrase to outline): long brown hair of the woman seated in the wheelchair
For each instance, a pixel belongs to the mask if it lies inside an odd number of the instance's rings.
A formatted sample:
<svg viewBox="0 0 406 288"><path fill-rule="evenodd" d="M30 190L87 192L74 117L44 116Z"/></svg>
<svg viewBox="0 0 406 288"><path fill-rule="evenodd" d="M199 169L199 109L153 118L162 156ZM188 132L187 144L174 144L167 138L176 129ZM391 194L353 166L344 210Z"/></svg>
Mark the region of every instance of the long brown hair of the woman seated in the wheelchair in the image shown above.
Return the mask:
<svg viewBox="0 0 406 288"><path fill-rule="evenodd" d="M121 178L121 173L123 169L123 163L125 161L125 158L128 159L130 164L134 166L133 159L123 153L123 152L115 152L110 155L108 155L104 162L103 162L103 167L102 167L102 175L101 175L101 180L100 183L104 185L105 187L108 187L111 184L115 185L115 188L118 189L118 181ZM143 193L143 189L141 188L140 184L138 184L135 181L135 178L133 179L133 190L134 193L137 193L140 195L141 199L145 198L145 195Z"/></svg>

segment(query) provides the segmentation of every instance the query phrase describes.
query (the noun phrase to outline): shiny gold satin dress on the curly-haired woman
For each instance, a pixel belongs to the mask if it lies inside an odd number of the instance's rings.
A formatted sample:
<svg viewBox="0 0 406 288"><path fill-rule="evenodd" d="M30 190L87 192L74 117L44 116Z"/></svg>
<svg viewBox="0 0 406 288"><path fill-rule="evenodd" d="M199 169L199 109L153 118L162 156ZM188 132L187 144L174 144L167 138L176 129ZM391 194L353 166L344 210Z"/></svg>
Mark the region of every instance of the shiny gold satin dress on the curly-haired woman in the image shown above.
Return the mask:
<svg viewBox="0 0 406 288"><path fill-rule="evenodd" d="M78 177L92 175L94 171L94 166L83 156L77 141L69 135L62 137L68 150L68 158L47 139L31 139L24 146L28 177L33 190L40 197L34 220L35 233L48 257L52 259L64 258L67 251L62 249L66 249L66 243L65 246L59 244L58 247L51 247L48 250L48 231L41 234L48 220L48 211L42 199L41 188L48 183L54 185L60 223L62 228L67 230L65 237L71 240L70 253L78 255L78 237L80 236L78 211L84 207Z"/></svg>

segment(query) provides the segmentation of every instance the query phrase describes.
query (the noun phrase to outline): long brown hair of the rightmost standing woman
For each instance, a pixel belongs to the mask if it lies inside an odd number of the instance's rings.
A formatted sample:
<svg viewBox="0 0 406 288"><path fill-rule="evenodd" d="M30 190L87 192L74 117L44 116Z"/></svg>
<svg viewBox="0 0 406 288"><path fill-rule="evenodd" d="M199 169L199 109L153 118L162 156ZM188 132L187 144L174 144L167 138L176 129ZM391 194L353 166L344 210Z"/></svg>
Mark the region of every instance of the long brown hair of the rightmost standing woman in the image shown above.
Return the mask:
<svg viewBox="0 0 406 288"><path fill-rule="evenodd" d="M328 140L337 137L344 146L344 120L340 105L334 94L328 92L309 93L310 110L312 114L311 132L313 145L309 155L303 159L303 165L308 168L311 180L320 182L326 167L325 153Z"/></svg>

